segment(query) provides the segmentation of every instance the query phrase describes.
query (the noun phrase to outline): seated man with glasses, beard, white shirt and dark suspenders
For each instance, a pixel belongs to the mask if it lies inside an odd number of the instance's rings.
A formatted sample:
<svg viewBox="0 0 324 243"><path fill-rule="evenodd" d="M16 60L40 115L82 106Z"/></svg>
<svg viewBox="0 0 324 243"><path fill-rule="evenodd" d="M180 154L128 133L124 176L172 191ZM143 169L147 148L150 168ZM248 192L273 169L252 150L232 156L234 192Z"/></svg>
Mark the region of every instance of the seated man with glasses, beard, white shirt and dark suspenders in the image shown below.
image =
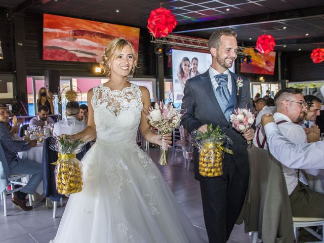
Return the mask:
<svg viewBox="0 0 324 243"><path fill-rule="evenodd" d="M276 112L273 114L273 118L282 135L295 144L307 143L303 128L295 124L304 119L307 111L307 104L302 92L294 88L279 90L274 97L274 102ZM265 134L263 131L263 133L259 133L259 140L263 141L264 138ZM255 145L260 147L259 143L255 143ZM271 145L277 148L276 150L270 150L271 154L277 158L276 153L280 153L281 148L273 145L273 143ZM269 146L270 144L267 144L267 148ZM292 153L287 153L287 155L292 157L296 156L296 154ZM324 217L324 195L310 190L308 186L299 181L299 169L304 169L308 174L317 175L319 172L319 170L316 170L318 165L314 164L312 167L310 166L311 163L305 166L304 161L292 164L287 162L289 159L278 160L281 163L282 171L286 179L293 216Z"/></svg>

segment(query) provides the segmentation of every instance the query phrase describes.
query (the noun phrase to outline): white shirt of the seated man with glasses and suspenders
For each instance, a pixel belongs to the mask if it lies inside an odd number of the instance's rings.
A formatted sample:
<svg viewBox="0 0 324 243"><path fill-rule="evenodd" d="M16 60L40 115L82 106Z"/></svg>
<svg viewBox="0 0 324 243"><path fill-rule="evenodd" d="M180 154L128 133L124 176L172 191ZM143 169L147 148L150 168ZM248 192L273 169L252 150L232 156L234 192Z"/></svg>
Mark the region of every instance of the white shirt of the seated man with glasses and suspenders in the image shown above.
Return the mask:
<svg viewBox="0 0 324 243"><path fill-rule="evenodd" d="M276 123L281 120L287 120L287 122L279 124L278 128L279 128L280 132L282 133L282 135L284 135L290 141L292 141L295 144L307 143L306 133L303 130L303 128L300 125L294 124L292 122L292 120L287 115L284 115L279 112L275 112L273 114L273 118ZM261 132L261 130L263 130L263 129L260 129L260 132L256 133L256 135L253 139L253 143L257 147L258 147L258 144L256 142L257 135L259 135L260 142L262 142L264 139L264 131ZM269 145L266 142L264 149L268 149L268 146ZM284 176L286 179L288 193L291 194L298 184L298 174L297 174L296 169L301 169L301 168L298 168L298 167L297 168L296 167L289 168L289 167L285 166L284 161L281 161L281 160L279 160L279 161L281 163L282 171L284 172ZM306 173L309 173L312 175L312 174L314 174L314 173L316 174L318 172L314 172L313 170L307 170ZM304 184L307 184L307 180L304 176L302 177L301 181Z"/></svg>

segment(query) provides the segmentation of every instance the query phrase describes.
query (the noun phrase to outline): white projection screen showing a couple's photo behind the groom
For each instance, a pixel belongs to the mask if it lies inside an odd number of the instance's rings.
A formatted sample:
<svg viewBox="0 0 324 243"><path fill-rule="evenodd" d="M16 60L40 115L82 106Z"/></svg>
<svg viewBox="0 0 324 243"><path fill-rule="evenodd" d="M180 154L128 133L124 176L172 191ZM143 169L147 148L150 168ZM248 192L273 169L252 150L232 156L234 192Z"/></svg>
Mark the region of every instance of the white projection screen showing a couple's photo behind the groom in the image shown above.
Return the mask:
<svg viewBox="0 0 324 243"><path fill-rule="evenodd" d="M183 89L186 81L207 71L212 64L210 53L173 50L172 76L173 76L173 102L179 106L182 102ZM234 72L234 65L229 69Z"/></svg>

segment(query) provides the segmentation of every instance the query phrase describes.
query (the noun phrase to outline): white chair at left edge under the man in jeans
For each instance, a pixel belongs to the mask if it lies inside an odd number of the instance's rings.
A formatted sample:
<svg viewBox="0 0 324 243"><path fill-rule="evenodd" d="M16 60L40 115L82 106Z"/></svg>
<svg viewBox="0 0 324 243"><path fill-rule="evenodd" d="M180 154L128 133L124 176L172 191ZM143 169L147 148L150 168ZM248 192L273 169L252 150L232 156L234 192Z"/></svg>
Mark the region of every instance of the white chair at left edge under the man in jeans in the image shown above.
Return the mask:
<svg viewBox="0 0 324 243"><path fill-rule="evenodd" d="M7 216L7 194L12 194L16 191L20 191L23 187L14 188L15 185L25 186L26 183L19 182L23 177L29 175L10 175L8 162L0 143L0 191L2 192L2 199L4 200L4 215ZM7 188L11 189L7 191ZM31 194L28 195L29 206L32 206Z"/></svg>

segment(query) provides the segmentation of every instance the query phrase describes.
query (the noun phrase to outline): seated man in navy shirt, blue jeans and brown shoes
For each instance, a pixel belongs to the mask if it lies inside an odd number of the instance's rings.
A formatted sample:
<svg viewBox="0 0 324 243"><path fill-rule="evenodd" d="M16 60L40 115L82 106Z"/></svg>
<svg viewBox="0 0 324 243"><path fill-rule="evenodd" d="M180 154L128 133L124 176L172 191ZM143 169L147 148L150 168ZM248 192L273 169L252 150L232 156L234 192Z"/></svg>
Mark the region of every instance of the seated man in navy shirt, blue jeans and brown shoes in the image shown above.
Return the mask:
<svg viewBox="0 0 324 243"><path fill-rule="evenodd" d="M21 159L17 152L29 150L35 147L37 140L26 141L13 140L7 124L9 114L6 105L0 105L0 142L7 159L9 173L11 175L27 174L32 175L28 183L12 198L12 203L24 211L31 210L31 206L26 205L27 194L33 194L38 184L42 181L42 165L29 159Z"/></svg>

